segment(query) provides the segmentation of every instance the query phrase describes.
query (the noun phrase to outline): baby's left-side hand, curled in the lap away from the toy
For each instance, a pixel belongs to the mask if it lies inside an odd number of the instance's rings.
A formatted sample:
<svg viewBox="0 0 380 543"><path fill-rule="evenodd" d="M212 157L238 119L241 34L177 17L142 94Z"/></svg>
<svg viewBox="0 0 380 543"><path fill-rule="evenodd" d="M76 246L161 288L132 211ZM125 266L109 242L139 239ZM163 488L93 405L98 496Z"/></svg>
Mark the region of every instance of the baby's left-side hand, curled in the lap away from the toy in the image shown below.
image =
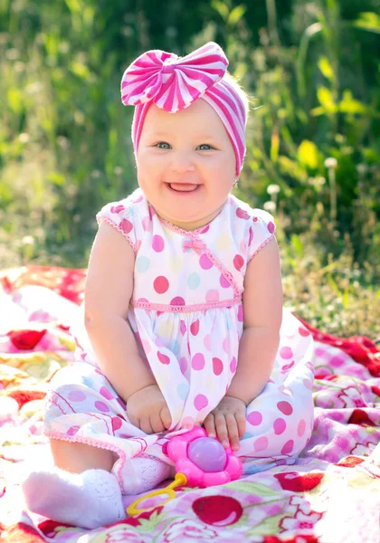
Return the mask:
<svg viewBox="0 0 380 543"><path fill-rule="evenodd" d="M159 386L149 385L129 396L127 413L131 424L145 433L160 433L172 424L169 409Z"/></svg>

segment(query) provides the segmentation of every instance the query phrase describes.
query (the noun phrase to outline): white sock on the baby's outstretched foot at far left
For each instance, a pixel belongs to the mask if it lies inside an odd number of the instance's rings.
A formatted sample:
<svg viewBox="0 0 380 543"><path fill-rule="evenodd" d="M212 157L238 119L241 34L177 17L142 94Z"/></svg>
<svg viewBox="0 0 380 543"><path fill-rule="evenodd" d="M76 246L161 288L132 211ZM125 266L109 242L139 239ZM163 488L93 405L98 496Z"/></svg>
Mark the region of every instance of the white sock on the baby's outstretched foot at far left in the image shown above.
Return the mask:
<svg viewBox="0 0 380 543"><path fill-rule="evenodd" d="M125 519L119 481L105 470L32 472L22 484L26 506L44 517L95 529Z"/></svg>

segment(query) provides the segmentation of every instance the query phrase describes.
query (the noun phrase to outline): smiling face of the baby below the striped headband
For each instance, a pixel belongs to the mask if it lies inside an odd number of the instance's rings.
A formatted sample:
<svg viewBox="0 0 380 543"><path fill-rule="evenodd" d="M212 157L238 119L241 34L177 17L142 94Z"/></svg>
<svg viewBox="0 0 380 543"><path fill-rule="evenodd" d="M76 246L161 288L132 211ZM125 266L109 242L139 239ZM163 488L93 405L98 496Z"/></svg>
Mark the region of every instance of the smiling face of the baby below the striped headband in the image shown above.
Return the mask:
<svg viewBox="0 0 380 543"><path fill-rule="evenodd" d="M195 230L219 214L235 179L233 145L204 100L177 113L152 104L137 152L138 185L158 215Z"/></svg>

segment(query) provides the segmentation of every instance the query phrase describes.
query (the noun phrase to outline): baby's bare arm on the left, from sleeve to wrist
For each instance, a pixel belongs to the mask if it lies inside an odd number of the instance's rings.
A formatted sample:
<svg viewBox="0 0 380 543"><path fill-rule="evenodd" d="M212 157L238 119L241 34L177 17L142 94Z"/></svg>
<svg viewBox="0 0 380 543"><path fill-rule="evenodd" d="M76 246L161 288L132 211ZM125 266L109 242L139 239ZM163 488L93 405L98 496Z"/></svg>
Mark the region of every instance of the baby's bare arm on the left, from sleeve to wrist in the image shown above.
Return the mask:
<svg viewBox="0 0 380 543"><path fill-rule="evenodd" d="M100 224L85 287L85 326L101 370L126 402L156 385L127 321L134 265L128 241L109 224Z"/></svg>

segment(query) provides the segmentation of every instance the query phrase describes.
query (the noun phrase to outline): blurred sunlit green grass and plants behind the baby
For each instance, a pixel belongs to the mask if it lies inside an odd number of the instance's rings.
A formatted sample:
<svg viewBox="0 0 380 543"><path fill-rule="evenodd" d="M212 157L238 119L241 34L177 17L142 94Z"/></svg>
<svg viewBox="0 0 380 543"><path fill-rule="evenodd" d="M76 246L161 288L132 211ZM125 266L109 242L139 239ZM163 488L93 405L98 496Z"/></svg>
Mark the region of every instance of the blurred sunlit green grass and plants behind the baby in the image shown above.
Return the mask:
<svg viewBox="0 0 380 543"><path fill-rule="evenodd" d="M380 336L380 0L1 0L0 268L86 267L136 186L122 72L220 43L251 96L236 194L275 215L285 304Z"/></svg>

